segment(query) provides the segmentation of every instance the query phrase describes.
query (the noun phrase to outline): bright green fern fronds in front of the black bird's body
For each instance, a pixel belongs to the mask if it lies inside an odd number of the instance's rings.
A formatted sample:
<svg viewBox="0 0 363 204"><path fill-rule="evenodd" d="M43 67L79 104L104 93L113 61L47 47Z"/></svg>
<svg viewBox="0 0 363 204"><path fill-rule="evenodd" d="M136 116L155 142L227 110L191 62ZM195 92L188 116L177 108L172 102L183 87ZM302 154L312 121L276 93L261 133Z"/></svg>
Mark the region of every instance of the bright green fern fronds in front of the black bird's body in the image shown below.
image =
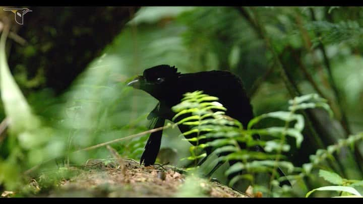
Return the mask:
<svg viewBox="0 0 363 204"><path fill-rule="evenodd" d="M212 147L213 154L220 155L216 159L217 162L234 161L234 164L225 171L226 176L236 172L244 172L244 174L233 175L228 183L230 186L234 186L240 180L248 180L265 196L279 197L282 193L292 190L287 185L282 186L282 190L279 189L278 187L282 181L290 178L289 182L294 184L301 177L309 176L312 167L316 167L326 159L322 154L311 155L313 163L302 165L304 168L296 168L291 162L286 161L286 157L282 154L290 151L290 145L286 142L288 137L295 140L297 148L300 148L301 142L304 140L301 134L305 126L304 117L297 114L296 111L309 108L324 108L330 113L331 117L333 116L332 110L326 103L327 101L317 94L295 97L289 100L289 111L276 111L259 115L253 118L247 127L244 127L239 121L225 116L224 111L226 111L226 108L217 101L217 97L203 94L203 91L186 93L182 101L172 107L172 110L176 113L173 121L175 121L175 125L184 124L191 127L189 131L183 132L183 135L189 138L185 140L196 142L196 145L190 148L191 156L187 158L188 160L197 163L198 160L207 156L205 153L201 154L198 150ZM265 128L254 127L266 118L279 119L284 124ZM264 140L254 140L253 135L256 134L260 135ZM268 137L271 139L266 139ZM361 140L361 135L351 137L347 141L340 141L341 146L329 148L328 154L344 145L347 146L346 143L354 143L358 140ZM199 143L200 141L204 142ZM247 148L241 149L239 144L245 144ZM257 152L254 150L256 146L261 147L265 152ZM327 151L320 150L320 153L322 152L327 153ZM288 176L279 175L278 168L286 170ZM269 182L266 181L268 179L266 177L262 181L256 179L257 175L262 172L271 174ZM279 190L276 190L276 188Z"/></svg>

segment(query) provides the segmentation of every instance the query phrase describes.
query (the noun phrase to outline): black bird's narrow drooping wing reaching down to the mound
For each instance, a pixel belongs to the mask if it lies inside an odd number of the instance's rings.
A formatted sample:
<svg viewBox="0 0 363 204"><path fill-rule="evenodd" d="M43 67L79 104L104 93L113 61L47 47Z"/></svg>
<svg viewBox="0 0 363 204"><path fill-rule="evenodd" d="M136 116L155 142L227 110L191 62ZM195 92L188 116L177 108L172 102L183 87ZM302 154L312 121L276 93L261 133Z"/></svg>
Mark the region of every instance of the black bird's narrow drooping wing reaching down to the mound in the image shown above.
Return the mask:
<svg viewBox="0 0 363 204"><path fill-rule="evenodd" d="M149 113L148 119L151 120L149 129L162 127L165 123L165 118L159 116L160 103ZM162 130L150 134L149 140L146 143L145 150L141 156L140 164L150 166L155 163L156 157L160 150Z"/></svg>

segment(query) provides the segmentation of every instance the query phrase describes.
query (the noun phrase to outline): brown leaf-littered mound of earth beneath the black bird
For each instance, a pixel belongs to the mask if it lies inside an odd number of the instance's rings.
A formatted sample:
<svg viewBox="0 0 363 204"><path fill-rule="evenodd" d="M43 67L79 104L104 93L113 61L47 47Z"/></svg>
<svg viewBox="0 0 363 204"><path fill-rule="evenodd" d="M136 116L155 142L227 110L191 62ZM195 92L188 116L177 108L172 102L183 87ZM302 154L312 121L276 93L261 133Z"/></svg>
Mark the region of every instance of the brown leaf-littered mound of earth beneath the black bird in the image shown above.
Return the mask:
<svg viewBox="0 0 363 204"><path fill-rule="evenodd" d="M189 176L173 166L144 167L131 159L90 159L85 165L63 167L71 176L60 177L56 187L41 190L48 175L32 179L41 197L249 197L218 182ZM43 181L42 181L43 180ZM197 190L198 189L198 190ZM197 192L198 191L198 192ZM11 195L11 194L9 194Z"/></svg>

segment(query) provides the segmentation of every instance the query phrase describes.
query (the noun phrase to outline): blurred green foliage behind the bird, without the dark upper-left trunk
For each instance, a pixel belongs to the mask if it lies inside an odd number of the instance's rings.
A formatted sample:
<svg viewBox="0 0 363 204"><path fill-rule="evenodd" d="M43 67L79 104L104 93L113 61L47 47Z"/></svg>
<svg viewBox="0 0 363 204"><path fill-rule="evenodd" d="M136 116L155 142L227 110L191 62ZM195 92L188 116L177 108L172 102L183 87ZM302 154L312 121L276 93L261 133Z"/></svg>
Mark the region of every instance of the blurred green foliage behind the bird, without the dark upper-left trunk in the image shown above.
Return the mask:
<svg viewBox="0 0 363 204"><path fill-rule="evenodd" d="M321 149L347 138L348 133L341 125L342 113L347 116L351 134L363 130L363 8L258 7L242 11L247 15L233 7L143 7L62 95L44 88L27 92L24 98L11 82L11 75L4 75L6 52L1 49L0 116L28 119L12 122L9 129L0 133L0 171L5 173L0 175L0 190L19 188L21 180L29 182L28 177L19 177L29 169L27 175L31 177L45 169L58 168L58 162L84 164L89 158L110 157L104 147L74 151L147 130L147 114L157 101L145 92L126 87L125 83L154 65L175 65L181 73L229 70L245 83L256 115L286 110L286 101L293 96L289 95L274 63L271 48L258 32L259 26L266 31L264 35L300 93L320 92L328 99L333 119L319 111L313 114L320 122L305 118L315 129L325 130L318 131L325 146ZM320 45L324 45L324 50ZM84 51L86 54L92 50ZM24 52L31 55L33 49L27 46ZM332 89L324 53L342 98L340 105ZM63 60L62 56L59 60ZM38 73L35 81L22 77L27 68L9 67L15 72L20 90L44 79L42 73ZM6 95L9 90L15 90L11 95L17 97L17 103L28 105L10 103ZM19 112L11 113L9 108ZM261 126L278 125L274 120L261 121ZM21 133L24 131L28 133ZM161 144L162 148L175 149L178 159L190 156L190 145L176 137L179 134L176 129L165 130ZM313 137L303 134L305 142ZM146 140L145 135L111 146L123 157L139 159ZM352 149L342 148L330 155L324 168L337 169L347 179L362 179L359 168L362 161L356 153L363 152L363 147L357 141L354 144ZM292 150L288 157L292 163L309 162L309 155L317 151L312 149L314 145L303 143L301 150ZM183 160L177 165L187 164ZM216 171L213 176L225 179L224 170ZM296 184L299 192L290 196L305 196L309 190L325 185L324 182L313 171L312 177ZM330 196L324 191L313 195Z"/></svg>

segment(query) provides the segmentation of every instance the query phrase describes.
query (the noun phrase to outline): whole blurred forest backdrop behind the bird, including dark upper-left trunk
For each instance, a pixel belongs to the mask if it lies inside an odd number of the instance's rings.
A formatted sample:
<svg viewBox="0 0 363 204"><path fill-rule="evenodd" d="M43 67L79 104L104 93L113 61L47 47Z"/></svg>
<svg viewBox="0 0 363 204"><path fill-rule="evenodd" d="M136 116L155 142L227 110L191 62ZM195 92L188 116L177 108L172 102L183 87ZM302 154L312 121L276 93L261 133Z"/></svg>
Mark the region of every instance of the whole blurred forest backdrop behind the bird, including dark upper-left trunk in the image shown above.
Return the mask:
<svg viewBox="0 0 363 204"><path fill-rule="evenodd" d="M37 118L28 120L30 128L17 129L17 121L7 125L7 118L15 116L7 111L12 104L3 93L10 86L2 72L0 191L16 189L19 175L29 169L36 175L58 163L107 158L105 147L74 151L147 130L146 117L157 101L125 84L159 64L175 65L181 73L226 70L238 75L255 115L285 110L295 96L317 93L327 99L334 117L315 109L302 112L302 146L288 141L292 149L286 156L295 166L309 162L318 149L363 131L361 7L30 9L22 26L11 12L0 11L2 33L10 26L6 49L0 52L6 52L11 74ZM190 145L179 134L164 131L161 148L174 149L176 165L184 166L188 162L180 158L190 154ZM146 140L144 135L111 146L122 157L139 160ZM363 179L361 142L332 156L321 169ZM214 176L225 182L227 167ZM317 170L305 188L290 196L327 185Z"/></svg>

